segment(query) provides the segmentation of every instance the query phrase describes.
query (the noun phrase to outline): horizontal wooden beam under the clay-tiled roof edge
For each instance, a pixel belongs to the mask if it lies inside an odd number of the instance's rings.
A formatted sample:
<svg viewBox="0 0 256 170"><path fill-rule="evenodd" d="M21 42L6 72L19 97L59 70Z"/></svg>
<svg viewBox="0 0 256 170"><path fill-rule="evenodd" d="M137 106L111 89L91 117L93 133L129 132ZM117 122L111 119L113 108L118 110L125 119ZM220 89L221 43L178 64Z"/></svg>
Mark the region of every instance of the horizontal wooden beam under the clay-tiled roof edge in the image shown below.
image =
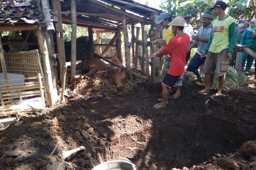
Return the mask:
<svg viewBox="0 0 256 170"><path fill-rule="evenodd" d="M29 25L29 24L24 24L24 25L20 25L20 24L14 24L14 26L7 26L7 25L0 25L0 32L3 31L25 31L25 30L37 30L38 29L38 25Z"/></svg>

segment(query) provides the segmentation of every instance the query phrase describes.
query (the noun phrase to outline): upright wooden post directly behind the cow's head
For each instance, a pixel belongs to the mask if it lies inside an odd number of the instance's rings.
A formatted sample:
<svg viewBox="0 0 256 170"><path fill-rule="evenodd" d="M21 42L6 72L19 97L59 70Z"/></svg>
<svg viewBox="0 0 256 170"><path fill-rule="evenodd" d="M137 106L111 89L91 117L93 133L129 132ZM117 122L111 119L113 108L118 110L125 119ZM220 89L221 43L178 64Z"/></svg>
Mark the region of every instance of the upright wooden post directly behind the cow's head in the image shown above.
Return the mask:
<svg viewBox="0 0 256 170"><path fill-rule="evenodd" d="M124 41L125 41L125 67L127 70L131 70L131 61L130 61L130 43L127 31L127 24L125 15L122 15L122 22L123 22L123 33L124 33Z"/></svg>

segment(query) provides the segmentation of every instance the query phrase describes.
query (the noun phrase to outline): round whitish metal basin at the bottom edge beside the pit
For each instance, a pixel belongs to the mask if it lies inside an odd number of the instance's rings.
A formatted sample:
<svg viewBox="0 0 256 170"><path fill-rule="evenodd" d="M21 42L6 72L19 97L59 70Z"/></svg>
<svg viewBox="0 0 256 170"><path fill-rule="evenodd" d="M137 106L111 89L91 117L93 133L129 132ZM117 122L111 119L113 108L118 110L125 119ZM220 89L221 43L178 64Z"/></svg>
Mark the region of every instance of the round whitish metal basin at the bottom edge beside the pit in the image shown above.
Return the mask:
<svg viewBox="0 0 256 170"><path fill-rule="evenodd" d="M93 170L136 170L136 165L123 160L111 160L97 165Z"/></svg>

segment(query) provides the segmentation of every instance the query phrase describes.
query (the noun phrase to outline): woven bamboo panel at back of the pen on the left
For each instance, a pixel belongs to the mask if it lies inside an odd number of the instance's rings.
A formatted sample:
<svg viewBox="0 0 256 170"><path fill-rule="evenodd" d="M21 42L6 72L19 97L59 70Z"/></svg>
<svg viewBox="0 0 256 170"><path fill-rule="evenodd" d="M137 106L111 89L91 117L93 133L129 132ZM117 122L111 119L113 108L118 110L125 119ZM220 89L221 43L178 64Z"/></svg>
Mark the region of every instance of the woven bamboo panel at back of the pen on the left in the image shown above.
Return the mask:
<svg viewBox="0 0 256 170"><path fill-rule="evenodd" d="M40 73L38 55L37 50L21 53L4 53L7 72L23 74L26 78L37 77L37 73ZM1 67L0 72L2 72Z"/></svg>

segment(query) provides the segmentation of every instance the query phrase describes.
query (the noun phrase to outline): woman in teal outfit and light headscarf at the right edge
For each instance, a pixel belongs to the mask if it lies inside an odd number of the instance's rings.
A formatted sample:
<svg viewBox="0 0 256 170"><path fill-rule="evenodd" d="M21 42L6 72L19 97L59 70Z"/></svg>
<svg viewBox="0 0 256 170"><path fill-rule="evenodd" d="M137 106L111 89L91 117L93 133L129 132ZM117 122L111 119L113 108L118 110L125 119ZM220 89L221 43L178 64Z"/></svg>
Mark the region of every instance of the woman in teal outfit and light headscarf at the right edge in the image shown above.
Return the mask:
<svg viewBox="0 0 256 170"><path fill-rule="evenodd" d="M252 19L250 21L250 27L243 32L240 44L249 47L256 52L256 37L253 35L254 31L256 31L256 19ZM242 53L242 71L244 70L245 62L247 61L244 72L245 75L249 74L249 71L253 65L253 60L254 58L248 55L246 52Z"/></svg>

